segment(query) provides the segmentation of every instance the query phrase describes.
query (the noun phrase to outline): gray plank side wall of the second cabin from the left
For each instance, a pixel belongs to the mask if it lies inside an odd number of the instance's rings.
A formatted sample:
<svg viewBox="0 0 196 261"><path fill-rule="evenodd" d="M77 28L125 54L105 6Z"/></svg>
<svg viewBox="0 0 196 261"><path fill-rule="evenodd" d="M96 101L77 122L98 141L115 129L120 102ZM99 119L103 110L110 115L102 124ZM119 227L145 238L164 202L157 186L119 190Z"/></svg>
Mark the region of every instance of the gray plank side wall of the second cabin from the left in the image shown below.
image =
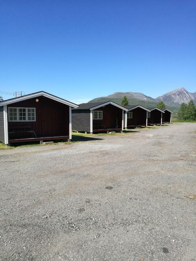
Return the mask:
<svg viewBox="0 0 196 261"><path fill-rule="evenodd" d="M91 131L91 113L90 110L71 110L72 130Z"/></svg>

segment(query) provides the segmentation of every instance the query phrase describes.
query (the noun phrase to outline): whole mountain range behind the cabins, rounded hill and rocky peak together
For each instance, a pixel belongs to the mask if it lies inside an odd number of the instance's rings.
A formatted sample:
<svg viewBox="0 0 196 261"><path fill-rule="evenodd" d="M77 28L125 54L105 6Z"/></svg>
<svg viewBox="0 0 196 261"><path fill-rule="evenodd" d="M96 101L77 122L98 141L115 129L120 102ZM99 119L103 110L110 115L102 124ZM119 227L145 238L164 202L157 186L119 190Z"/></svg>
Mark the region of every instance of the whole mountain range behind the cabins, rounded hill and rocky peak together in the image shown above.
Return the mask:
<svg viewBox="0 0 196 261"><path fill-rule="evenodd" d="M196 92L189 93L184 88L179 88L173 90L169 93L163 94L156 99L146 96L143 93L133 93L133 92L117 92L105 97L97 97L89 102L106 102L111 100L116 102L117 104L121 104L121 100L123 96L126 95L130 105L141 105L145 106L145 99L146 99L146 107L153 107L156 106L158 102L163 101L167 108L172 110L173 112L177 113L180 108L182 102L188 103L190 99L196 104Z"/></svg>

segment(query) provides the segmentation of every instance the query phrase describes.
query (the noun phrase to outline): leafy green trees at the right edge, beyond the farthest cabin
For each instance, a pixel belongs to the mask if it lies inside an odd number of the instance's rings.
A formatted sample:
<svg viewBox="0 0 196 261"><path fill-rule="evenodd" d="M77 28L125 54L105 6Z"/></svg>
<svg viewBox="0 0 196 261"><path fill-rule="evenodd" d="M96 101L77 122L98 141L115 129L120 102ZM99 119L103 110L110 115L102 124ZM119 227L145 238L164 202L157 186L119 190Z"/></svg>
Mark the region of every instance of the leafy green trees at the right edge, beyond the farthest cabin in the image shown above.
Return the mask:
<svg viewBox="0 0 196 261"><path fill-rule="evenodd" d="M188 104L182 103L178 111L177 119L180 121L195 121L196 120L196 106L193 101Z"/></svg>

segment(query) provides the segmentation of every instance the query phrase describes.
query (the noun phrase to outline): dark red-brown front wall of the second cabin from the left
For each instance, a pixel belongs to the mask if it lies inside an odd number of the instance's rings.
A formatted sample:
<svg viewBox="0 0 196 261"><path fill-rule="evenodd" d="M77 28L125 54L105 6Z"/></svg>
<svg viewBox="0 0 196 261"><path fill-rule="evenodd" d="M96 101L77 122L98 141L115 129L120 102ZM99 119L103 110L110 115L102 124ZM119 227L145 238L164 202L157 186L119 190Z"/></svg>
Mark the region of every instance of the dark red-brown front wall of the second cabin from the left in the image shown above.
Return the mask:
<svg viewBox="0 0 196 261"><path fill-rule="evenodd" d="M122 128L123 111L121 108L108 104L96 110L103 111L103 119L93 119L93 129L99 129L100 125L104 125L107 129L116 128L116 117L118 119L118 128Z"/></svg>

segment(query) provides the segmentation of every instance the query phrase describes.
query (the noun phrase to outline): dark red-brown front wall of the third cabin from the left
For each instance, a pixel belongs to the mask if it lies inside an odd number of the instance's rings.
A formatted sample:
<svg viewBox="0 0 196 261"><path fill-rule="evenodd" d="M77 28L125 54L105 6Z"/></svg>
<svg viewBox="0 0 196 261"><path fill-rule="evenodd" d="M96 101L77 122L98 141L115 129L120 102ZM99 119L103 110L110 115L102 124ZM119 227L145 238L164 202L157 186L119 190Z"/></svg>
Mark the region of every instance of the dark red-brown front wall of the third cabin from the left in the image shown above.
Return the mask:
<svg viewBox="0 0 196 261"><path fill-rule="evenodd" d="M127 117L127 126L146 125L146 110L138 107L130 112L132 112L132 119Z"/></svg>

